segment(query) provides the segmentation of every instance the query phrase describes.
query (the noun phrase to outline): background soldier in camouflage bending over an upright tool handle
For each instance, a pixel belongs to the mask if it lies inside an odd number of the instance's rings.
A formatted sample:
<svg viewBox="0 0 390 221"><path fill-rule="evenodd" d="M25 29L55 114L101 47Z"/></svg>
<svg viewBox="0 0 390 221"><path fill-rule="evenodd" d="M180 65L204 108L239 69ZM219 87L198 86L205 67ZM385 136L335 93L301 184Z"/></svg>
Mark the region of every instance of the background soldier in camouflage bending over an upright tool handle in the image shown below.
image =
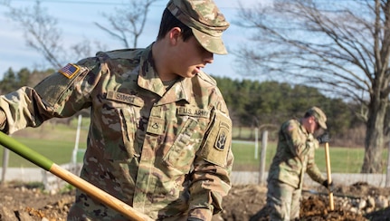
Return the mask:
<svg viewBox="0 0 390 221"><path fill-rule="evenodd" d="M288 120L281 125L278 147L272 159L267 179L267 207L271 220L295 220L300 218L300 196L305 172L309 177L328 187L328 180L322 176L314 161L315 149L319 143L329 141L328 133L317 139L314 133L327 130L327 117L318 107L306 111L300 120Z"/></svg>

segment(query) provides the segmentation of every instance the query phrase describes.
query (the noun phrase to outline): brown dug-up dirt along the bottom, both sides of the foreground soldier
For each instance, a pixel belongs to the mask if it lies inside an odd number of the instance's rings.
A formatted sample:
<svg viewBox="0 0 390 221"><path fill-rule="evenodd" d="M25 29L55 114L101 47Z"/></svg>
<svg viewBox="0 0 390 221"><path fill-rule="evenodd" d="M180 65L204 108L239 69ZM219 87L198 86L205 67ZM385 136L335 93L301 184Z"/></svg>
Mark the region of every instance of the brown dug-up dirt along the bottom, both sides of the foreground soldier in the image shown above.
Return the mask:
<svg viewBox="0 0 390 221"><path fill-rule="evenodd" d="M74 200L74 189L62 193L49 194L34 185L6 183L0 186L0 221L8 220L66 220L66 215ZM320 187L317 193L323 191ZM234 186L224 197L224 211L214 220L268 220L265 205L266 187L258 185ZM390 188L372 187L357 183L350 187L338 187L335 191L335 209L328 209L327 194L303 192L300 220L388 220L390 208L374 213L358 215L341 206L343 196L389 196ZM10 218L14 216L14 219Z"/></svg>

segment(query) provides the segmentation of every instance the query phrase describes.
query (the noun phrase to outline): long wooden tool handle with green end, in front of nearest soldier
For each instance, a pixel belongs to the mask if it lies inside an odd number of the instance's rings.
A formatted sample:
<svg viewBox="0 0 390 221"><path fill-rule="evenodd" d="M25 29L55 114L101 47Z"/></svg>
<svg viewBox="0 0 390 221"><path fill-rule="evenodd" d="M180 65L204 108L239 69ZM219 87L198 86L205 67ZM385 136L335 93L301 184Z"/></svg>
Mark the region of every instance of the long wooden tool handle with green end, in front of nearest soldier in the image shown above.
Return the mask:
<svg viewBox="0 0 390 221"><path fill-rule="evenodd" d="M0 144L5 146L6 149L11 149L12 151L14 151L14 153L20 155L24 159L31 161L36 166L51 172L58 178L62 178L66 182L70 183L72 186L81 189L81 191L85 192L89 196L94 197L101 203L107 205L108 207L111 207L117 212L123 214L124 216L127 216L130 220L153 220L149 216L138 212L133 207L128 206L126 203L119 200L118 198L109 195L107 192L101 190L99 187L95 187L84 179L72 174L70 171L61 168L57 164L53 163L52 160L43 157L43 155L37 153L33 149L24 146L24 144L7 136L4 132L1 131Z"/></svg>

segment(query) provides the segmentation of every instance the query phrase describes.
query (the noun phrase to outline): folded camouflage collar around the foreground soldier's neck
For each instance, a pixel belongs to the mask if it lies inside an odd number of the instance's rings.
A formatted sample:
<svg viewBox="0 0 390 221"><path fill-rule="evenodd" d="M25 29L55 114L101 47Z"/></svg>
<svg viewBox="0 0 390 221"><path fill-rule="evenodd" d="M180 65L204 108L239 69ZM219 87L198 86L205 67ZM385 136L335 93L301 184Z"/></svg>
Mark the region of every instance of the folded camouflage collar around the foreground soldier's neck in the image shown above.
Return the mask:
<svg viewBox="0 0 390 221"><path fill-rule="evenodd" d="M189 102L191 90L193 88L190 78L181 78L166 91L163 82L161 82L155 68L152 56L152 44L147 46L141 55L140 67L138 73L138 86L152 91L161 97L157 104L165 104L185 100Z"/></svg>

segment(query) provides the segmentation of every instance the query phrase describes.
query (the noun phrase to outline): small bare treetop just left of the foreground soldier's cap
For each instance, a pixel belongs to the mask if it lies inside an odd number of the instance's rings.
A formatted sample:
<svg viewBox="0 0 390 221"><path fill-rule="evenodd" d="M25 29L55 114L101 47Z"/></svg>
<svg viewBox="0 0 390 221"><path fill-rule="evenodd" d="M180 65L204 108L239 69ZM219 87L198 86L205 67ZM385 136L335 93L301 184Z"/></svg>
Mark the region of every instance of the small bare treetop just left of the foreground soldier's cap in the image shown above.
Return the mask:
<svg viewBox="0 0 390 221"><path fill-rule="evenodd" d="M111 35L118 39L126 48L130 47L130 43L133 43L132 47L136 48L138 44L138 37L144 31L145 24L147 22L147 13L149 7L158 0L130 0L127 7L116 8L113 14L105 14L109 20L110 27L105 27L102 24L95 23Z"/></svg>

